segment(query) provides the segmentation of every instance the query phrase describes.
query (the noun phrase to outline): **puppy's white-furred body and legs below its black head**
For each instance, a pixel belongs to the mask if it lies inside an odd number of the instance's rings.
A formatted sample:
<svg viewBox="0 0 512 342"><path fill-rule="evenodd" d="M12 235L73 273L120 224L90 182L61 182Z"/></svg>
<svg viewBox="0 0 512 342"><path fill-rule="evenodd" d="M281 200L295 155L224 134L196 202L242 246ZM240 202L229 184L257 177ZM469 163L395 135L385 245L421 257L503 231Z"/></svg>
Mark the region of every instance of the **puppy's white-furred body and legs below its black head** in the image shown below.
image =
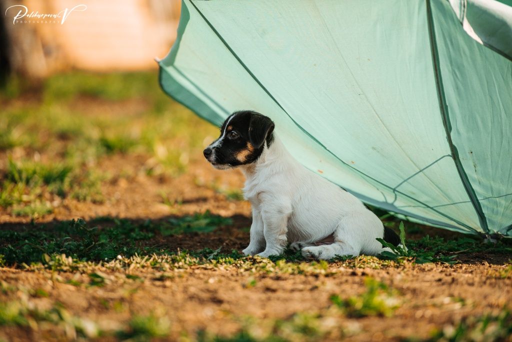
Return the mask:
<svg viewBox="0 0 512 342"><path fill-rule="evenodd" d="M241 169L244 197L252 205L245 255L278 255L287 243L302 248L307 258L325 260L389 250L375 240L383 237L384 228L374 213L298 163L278 138L264 147L256 162ZM322 244L326 240L331 244Z"/></svg>

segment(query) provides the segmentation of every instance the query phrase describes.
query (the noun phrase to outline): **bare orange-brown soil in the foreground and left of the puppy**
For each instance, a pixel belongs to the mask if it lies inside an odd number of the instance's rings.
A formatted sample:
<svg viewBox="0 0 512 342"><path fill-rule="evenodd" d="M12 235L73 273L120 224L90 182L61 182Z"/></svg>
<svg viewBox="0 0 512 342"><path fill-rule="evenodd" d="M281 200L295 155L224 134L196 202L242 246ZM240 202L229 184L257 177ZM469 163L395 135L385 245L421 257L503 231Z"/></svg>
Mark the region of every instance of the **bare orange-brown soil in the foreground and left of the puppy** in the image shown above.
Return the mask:
<svg viewBox="0 0 512 342"><path fill-rule="evenodd" d="M225 251L246 246L250 205L245 201L230 201L211 186L240 188L243 184L240 172L215 170L198 158L191 161L187 172L180 176L154 177L141 172L149 162L142 155L115 155L102 160L99 169L112 175L102 188L104 203L66 199L52 215L37 222L88 220L100 216L159 220L209 210L232 218L233 225L211 233L169 237L158 243L166 243L170 249L222 247ZM162 194L170 205L163 203ZM0 215L2 229L15 229L29 221L6 212ZM428 231L446 238L456 236L435 228L428 228ZM476 253L465 255L456 265L405 264L384 269L352 269L335 262L328 266L329 270L336 271L331 275L252 274L233 269L192 267L179 277L165 281L155 280L154 270L138 269L136 274L143 281L121 285L113 281L103 287L76 287L54 281L50 272L14 268L0 269L0 279L13 286L44 289L48 297L34 299L39 305L59 302L72 314L110 328L126 322L134 314L163 310L172 322L171 335L165 339L176 340L183 331L194 335L202 329L231 335L239 324L230 317L285 319L296 312L327 310L333 293L344 297L360 294L365 291L366 277L371 276L399 291L402 305L392 317L344 318L339 324L353 332L350 340L377 341L411 336L425 339L434 329L456 324L464 317L503 308L512 300L512 278L501 279L495 274L504 269L509 258L509 255ZM71 279L74 274L61 272L59 276ZM251 282L255 285L247 286ZM1 294L0 299L10 298ZM112 309L118 301L122 302L123 310ZM12 341L53 339L37 330L15 326L2 327L1 337Z"/></svg>

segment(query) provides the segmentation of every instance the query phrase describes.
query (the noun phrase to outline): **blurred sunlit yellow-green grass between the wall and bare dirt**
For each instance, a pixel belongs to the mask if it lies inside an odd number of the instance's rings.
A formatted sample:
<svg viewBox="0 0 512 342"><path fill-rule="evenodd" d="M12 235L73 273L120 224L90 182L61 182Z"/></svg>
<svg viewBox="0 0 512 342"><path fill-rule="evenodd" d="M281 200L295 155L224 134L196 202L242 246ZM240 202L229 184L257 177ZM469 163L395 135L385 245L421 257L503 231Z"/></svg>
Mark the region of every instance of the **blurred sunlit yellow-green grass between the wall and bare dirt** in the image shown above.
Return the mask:
<svg viewBox="0 0 512 342"><path fill-rule="evenodd" d="M63 199L101 203L108 180L97 164L116 154L143 154L140 171L186 172L189 152L216 134L159 89L154 72L51 76L39 84L13 79L1 92L0 207L41 217ZM190 130L190 126L194 130Z"/></svg>

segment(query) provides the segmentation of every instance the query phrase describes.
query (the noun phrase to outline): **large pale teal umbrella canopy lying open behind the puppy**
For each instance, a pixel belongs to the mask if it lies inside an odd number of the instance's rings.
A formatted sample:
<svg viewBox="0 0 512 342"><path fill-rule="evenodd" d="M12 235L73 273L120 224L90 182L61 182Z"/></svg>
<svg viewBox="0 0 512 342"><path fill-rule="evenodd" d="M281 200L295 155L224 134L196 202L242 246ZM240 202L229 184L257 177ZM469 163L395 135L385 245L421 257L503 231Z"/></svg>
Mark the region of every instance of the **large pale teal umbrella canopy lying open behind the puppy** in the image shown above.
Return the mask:
<svg viewBox="0 0 512 342"><path fill-rule="evenodd" d="M271 117L313 172L412 221L512 236L512 7L184 0L162 89Z"/></svg>

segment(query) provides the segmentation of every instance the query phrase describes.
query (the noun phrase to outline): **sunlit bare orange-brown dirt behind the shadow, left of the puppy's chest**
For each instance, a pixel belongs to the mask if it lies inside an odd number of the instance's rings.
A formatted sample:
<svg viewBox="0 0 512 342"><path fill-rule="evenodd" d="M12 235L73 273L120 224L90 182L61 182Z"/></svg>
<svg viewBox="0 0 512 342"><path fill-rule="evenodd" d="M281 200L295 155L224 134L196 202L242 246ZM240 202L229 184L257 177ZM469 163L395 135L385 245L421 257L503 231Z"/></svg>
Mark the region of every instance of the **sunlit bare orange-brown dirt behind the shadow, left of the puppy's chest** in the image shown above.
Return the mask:
<svg viewBox="0 0 512 342"><path fill-rule="evenodd" d="M239 170L220 171L203 161L193 161L186 173L177 177L165 174L147 176L151 159L143 155L115 155L102 159L97 168L110 175L104 182L103 203L64 199L54 212L36 222L51 222L101 216L126 219L158 219L169 215L190 215L209 210L230 217L250 215L246 201L230 201L216 188L240 189L243 176ZM165 202L168 204L164 203ZM0 208L0 224L28 223L27 217L13 217ZM249 223L250 226L250 223Z"/></svg>

